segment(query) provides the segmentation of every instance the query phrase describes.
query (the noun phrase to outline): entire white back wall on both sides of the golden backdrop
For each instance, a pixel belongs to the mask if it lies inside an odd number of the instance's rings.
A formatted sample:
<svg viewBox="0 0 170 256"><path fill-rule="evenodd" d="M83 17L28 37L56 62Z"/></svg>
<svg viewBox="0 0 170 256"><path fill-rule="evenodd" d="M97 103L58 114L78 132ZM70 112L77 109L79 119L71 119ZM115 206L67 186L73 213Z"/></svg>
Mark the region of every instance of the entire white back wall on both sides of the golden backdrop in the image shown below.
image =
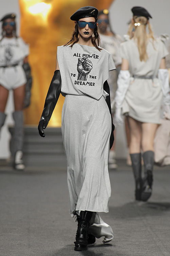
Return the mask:
<svg viewBox="0 0 170 256"><path fill-rule="evenodd" d="M131 8L135 5L145 7L153 19L151 24L155 35L159 36L161 33L170 34L170 0L115 0L110 8L110 19L113 30L123 37L126 34L130 18L132 17ZM17 0L5 0L1 3L0 17L6 13L15 12L17 14L17 24L19 30L19 4ZM11 112L13 111L12 94L10 94L6 113L8 118L5 125L1 129L0 134L0 158L8 158L10 156L8 150L8 141L10 134L7 131L7 125L13 124ZM126 157L126 138L124 134L124 125L120 126L116 131L116 154L119 158Z"/></svg>

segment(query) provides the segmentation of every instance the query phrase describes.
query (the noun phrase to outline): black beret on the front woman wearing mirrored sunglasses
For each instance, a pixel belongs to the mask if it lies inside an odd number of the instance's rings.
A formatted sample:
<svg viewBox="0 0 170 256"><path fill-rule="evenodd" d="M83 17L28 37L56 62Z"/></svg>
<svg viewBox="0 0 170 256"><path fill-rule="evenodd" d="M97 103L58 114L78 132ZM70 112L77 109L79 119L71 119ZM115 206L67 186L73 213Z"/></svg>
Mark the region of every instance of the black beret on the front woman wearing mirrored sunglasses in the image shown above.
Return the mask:
<svg viewBox="0 0 170 256"><path fill-rule="evenodd" d="M81 18L86 18L86 17L97 18L97 15L98 15L98 9L96 9L93 6L84 6L79 10L77 10L73 15L71 15L70 19L77 21Z"/></svg>

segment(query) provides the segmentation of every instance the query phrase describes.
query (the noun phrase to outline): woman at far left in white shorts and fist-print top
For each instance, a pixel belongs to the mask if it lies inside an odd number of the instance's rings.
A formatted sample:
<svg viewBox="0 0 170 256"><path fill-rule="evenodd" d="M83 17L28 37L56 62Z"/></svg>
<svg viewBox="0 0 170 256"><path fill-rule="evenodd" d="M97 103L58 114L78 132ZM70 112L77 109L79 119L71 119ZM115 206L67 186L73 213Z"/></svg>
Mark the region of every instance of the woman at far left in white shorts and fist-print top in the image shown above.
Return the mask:
<svg viewBox="0 0 170 256"><path fill-rule="evenodd" d="M0 39L0 129L6 118L4 112L9 90L13 90L15 127L10 150L13 167L17 170L23 170L23 108L30 104L32 77L28 63L29 48L22 38L16 35L15 17L16 15L11 13L0 20L2 22L2 38Z"/></svg>

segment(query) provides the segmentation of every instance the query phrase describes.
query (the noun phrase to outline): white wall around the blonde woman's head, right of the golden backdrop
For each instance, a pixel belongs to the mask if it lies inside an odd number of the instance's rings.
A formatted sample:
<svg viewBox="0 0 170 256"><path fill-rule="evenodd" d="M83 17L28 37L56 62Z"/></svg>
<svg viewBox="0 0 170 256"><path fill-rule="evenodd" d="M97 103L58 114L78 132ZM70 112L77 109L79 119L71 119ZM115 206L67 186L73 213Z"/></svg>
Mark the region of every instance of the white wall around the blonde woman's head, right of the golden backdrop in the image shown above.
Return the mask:
<svg viewBox="0 0 170 256"><path fill-rule="evenodd" d="M109 9L109 18L116 33L122 36L126 34L133 6L142 6L148 10L152 16L150 23L157 37L162 33L170 34L170 0L115 0Z"/></svg>

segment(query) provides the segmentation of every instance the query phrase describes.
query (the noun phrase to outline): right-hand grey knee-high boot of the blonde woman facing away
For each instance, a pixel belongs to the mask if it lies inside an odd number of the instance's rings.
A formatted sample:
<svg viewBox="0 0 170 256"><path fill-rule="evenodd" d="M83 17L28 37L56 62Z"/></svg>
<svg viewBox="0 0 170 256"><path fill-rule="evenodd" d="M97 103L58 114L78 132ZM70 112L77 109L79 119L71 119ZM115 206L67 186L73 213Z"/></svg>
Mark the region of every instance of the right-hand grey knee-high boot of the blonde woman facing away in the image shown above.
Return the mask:
<svg viewBox="0 0 170 256"><path fill-rule="evenodd" d="M149 150L143 153L144 178L142 180L141 200L147 201L152 194L154 152Z"/></svg>

